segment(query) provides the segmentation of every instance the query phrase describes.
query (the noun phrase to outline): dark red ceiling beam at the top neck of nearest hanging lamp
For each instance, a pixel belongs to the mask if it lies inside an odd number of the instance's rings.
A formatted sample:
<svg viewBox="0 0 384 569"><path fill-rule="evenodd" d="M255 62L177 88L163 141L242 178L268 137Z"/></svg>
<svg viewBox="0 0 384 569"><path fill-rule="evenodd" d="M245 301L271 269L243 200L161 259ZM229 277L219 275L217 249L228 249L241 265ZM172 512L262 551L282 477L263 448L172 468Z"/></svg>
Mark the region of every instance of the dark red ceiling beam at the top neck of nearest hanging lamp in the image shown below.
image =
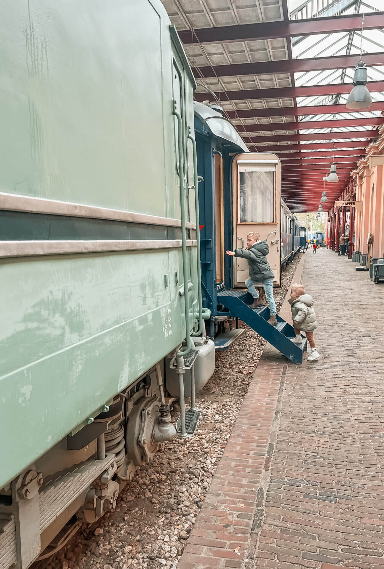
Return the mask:
<svg viewBox="0 0 384 569"><path fill-rule="evenodd" d="M311 57L309 59L279 59L276 61L252 61L251 63L232 63L226 65L208 65L193 68L196 79L202 76L237 77L239 75L270 75L271 73L304 73L308 71L325 71L326 69L354 68L360 55L333 55L332 57ZM384 52L364 53L364 63L368 66L383 65Z"/></svg>

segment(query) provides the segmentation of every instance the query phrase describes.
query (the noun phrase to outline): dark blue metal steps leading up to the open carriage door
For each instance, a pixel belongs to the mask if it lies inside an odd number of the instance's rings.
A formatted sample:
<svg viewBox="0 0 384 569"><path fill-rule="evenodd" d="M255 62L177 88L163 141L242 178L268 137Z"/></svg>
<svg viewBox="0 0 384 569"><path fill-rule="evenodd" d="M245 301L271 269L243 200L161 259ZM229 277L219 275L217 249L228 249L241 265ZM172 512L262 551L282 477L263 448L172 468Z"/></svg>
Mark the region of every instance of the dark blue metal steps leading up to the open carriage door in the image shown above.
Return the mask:
<svg viewBox="0 0 384 569"><path fill-rule="evenodd" d="M272 344L294 364L303 363L303 352L307 350L307 339L302 336L302 343L295 344L294 328L285 320L276 316L278 325L272 326L268 320L270 311L267 306L250 308L246 301L253 302L252 296L243 290L223 290L217 293L217 302L223 304L234 316L248 324L267 342Z"/></svg>

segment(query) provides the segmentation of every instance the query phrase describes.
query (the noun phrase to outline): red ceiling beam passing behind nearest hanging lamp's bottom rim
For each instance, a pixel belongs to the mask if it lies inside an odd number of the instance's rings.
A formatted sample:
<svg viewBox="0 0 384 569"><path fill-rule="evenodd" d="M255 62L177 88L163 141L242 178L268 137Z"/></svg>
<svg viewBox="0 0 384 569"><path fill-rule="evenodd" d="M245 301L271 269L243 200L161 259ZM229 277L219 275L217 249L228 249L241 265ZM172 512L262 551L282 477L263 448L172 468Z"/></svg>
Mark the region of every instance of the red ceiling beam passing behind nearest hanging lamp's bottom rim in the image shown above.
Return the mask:
<svg viewBox="0 0 384 569"><path fill-rule="evenodd" d="M384 111L384 101L373 102L370 111ZM229 118L264 118L264 117L300 117L312 114L356 113L345 105L312 105L295 107L278 107L273 109L238 109L226 110Z"/></svg>

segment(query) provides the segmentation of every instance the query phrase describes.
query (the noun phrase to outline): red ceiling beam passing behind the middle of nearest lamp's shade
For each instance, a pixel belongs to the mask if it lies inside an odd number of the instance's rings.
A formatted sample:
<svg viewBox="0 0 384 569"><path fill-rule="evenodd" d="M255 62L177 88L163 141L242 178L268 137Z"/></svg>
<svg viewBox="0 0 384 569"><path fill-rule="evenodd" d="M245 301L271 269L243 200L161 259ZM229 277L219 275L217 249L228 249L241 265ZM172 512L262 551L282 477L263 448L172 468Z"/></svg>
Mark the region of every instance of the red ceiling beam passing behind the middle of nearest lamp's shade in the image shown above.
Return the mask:
<svg viewBox="0 0 384 569"><path fill-rule="evenodd" d="M367 85L371 93L384 91L384 81L370 81ZM250 101L270 98L292 97L319 97L324 95L349 94L352 83L335 83L331 85L307 85L303 87L275 87L271 89L242 89L240 91L226 91L229 101ZM222 99L223 93L215 93L217 101ZM207 100L207 93L195 93L195 100Z"/></svg>

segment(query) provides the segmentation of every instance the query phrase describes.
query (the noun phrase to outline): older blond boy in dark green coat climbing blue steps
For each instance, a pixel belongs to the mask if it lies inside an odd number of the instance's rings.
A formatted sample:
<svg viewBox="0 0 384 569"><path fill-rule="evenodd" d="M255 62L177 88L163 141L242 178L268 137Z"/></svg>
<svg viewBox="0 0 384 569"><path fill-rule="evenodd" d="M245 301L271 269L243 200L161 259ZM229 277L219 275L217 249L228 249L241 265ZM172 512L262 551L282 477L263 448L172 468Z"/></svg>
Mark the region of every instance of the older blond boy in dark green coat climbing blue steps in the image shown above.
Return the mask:
<svg viewBox="0 0 384 569"><path fill-rule="evenodd" d="M261 282L265 290L265 295L270 308L269 323L277 326L276 320L276 304L273 298L273 281L274 273L269 266L266 255L269 253L269 246L266 241L260 241L259 233L247 234L247 246L245 249L236 249L235 251L225 251L227 255L232 257L242 257L247 259L249 265L249 279L246 279L245 286L248 292L253 296L254 301L250 304L250 308L257 308L263 303L259 299L259 293L255 288L255 283Z"/></svg>

